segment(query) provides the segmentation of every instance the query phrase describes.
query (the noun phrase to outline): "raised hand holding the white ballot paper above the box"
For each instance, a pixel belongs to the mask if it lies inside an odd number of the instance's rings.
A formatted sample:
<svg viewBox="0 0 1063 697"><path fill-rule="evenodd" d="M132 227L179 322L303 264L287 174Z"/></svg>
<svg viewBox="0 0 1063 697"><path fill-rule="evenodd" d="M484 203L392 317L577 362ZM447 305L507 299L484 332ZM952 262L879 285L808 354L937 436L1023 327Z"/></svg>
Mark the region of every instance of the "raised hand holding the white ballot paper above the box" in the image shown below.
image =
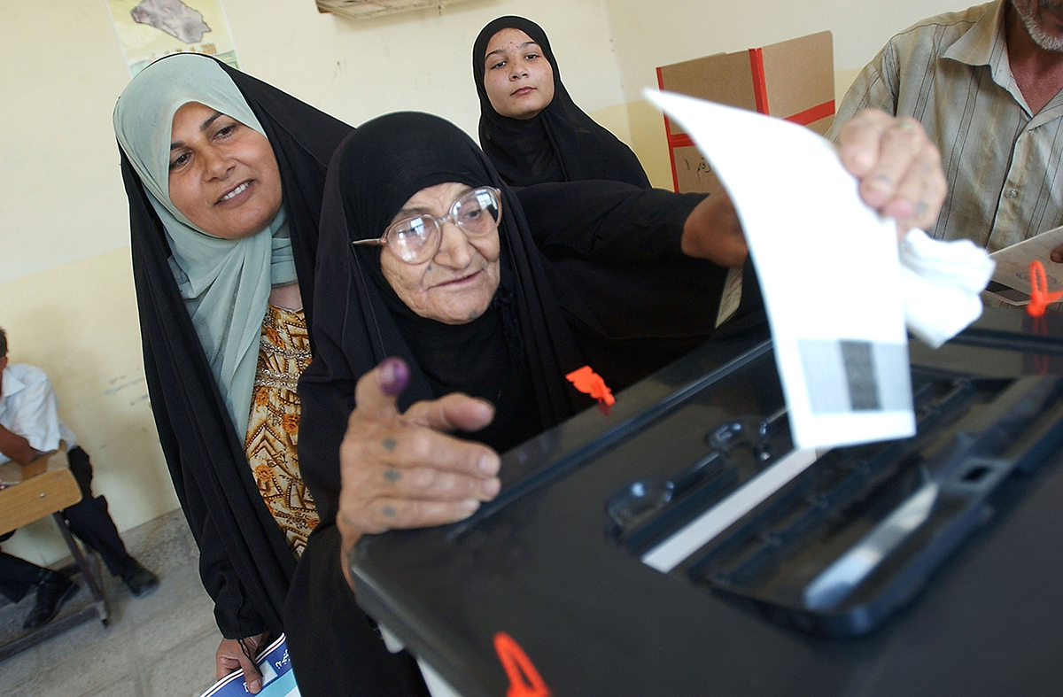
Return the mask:
<svg viewBox="0 0 1063 697"><path fill-rule="evenodd" d="M860 198L897 221L897 234L929 228L945 201L941 155L923 126L877 109L857 114L838 136L842 165L860 182Z"/></svg>

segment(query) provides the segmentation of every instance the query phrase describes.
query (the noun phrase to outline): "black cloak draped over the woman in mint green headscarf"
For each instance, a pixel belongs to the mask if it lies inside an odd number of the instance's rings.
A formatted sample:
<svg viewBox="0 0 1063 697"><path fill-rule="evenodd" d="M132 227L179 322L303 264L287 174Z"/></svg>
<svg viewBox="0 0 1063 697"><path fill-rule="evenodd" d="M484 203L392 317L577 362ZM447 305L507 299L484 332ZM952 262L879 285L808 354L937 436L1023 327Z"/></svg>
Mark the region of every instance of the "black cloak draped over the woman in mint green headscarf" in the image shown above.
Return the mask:
<svg viewBox="0 0 1063 697"><path fill-rule="evenodd" d="M309 326L327 163L352 129L218 65L253 109L276 156ZM167 261L170 250L162 222L124 153L121 160L148 391L173 486L200 547L203 583L215 600L223 635L251 636L267 628L279 634L296 560L248 465L246 425L232 423L181 298Z"/></svg>

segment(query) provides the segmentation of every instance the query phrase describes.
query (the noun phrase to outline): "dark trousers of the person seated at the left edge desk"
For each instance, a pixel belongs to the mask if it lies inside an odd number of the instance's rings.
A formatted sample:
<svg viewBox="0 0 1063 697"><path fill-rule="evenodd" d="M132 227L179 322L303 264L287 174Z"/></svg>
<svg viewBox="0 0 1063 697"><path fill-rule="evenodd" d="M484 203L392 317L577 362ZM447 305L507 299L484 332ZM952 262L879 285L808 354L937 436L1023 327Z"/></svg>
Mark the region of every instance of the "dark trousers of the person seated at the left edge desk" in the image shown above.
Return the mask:
<svg viewBox="0 0 1063 697"><path fill-rule="evenodd" d="M118 537L118 528L111 520L107 499L92 496L92 464L88 460L88 453L75 447L67 453L67 458L82 498L73 506L63 509L63 516L69 523L70 531L100 554L107 571L121 576L133 558L125 551L125 545ZM13 602L22 599L30 586L37 582L39 574L40 567L36 564L0 551L0 593Z"/></svg>

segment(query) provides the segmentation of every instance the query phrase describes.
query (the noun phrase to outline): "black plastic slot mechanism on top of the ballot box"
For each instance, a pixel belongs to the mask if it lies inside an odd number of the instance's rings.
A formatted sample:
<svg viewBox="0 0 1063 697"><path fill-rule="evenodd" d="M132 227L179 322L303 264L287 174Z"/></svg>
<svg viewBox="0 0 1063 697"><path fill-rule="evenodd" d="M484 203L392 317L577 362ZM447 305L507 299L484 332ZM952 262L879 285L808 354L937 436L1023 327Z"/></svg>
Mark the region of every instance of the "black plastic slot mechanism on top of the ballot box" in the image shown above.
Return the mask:
<svg viewBox="0 0 1063 697"><path fill-rule="evenodd" d="M675 573L831 635L907 602L992 515L993 493L1063 444L1059 378L917 373L914 437L830 450Z"/></svg>

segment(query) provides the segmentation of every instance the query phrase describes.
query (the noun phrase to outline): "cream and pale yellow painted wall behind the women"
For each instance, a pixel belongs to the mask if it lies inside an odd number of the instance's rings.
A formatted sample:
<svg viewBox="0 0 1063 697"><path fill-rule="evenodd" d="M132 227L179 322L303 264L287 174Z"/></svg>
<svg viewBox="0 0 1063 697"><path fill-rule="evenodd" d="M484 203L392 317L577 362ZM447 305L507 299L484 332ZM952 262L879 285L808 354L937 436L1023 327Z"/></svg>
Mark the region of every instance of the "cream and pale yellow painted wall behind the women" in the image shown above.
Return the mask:
<svg viewBox="0 0 1063 697"><path fill-rule="evenodd" d="M475 133L470 47L493 17L546 30L577 103L634 144L670 186L659 114L639 100L654 68L829 29L841 81L895 31L943 0L471 0L355 21L313 0L222 0L241 66L351 123L423 109ZM2 2L0 326L12 359L41 366L62 416L97 468L126 529L176 507L151 421L139 356L114 101L129 81L103 0ZM848 75L847 78L845 75ZM847 84L847 83L845 83ZM4 548L62 554L49 525Z"/></svg>

